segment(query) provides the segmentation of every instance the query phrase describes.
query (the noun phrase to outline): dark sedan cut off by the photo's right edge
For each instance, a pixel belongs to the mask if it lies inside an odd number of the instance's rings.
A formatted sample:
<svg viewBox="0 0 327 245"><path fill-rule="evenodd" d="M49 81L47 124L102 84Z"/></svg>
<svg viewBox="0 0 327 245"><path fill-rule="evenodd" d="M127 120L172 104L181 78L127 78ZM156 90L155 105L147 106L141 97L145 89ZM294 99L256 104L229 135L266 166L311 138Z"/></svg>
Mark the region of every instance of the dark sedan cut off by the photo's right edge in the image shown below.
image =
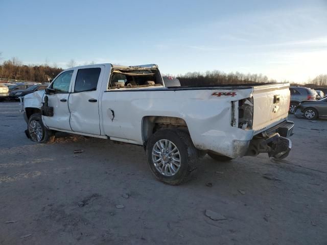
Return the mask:
<svg viewBox="0 0 327 245"><path fill-rule="evenodd" d="M298 118L317 119L327 117L327 97L319 101L302 101L295 109Z"/></svg>

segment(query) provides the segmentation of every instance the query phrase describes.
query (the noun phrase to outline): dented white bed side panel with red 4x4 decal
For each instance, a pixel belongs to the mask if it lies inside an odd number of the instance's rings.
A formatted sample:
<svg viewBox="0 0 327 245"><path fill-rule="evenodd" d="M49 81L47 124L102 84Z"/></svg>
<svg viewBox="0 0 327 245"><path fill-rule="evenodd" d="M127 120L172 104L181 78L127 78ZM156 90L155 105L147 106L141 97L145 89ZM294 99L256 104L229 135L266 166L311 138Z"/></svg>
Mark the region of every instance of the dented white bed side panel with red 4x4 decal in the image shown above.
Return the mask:
<svg viewBox="0 0 327 245"><path fill-rule="evenodd" d="M104 131L110 138L143 144L140 129L145 116L178 117L186 122L196 148L237 157L246 151L244 147L253 131L231 126L231 102L250 97L252 91L252 88L108 91L102 97L102 104L110 105L102 107ZM219 93L229 94L217 96Z"/></svg>

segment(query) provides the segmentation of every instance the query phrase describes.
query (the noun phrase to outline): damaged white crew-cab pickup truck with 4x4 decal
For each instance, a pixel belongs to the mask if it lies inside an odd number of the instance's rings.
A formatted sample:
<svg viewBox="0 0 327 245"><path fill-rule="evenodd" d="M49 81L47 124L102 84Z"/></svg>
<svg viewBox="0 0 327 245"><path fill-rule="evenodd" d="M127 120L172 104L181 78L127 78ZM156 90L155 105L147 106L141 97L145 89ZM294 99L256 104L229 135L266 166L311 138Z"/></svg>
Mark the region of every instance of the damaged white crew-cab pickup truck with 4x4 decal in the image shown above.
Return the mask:
<svg viewBox="0 0 327 245"><path fill-rule="evenodd" d="M289 104L288 83L165 86L157 65L99 64L62 71L26 95L21 111L33 141L62 131L143 145L154 176L177 185L206 153L218 161L286 157Z"/></svg>

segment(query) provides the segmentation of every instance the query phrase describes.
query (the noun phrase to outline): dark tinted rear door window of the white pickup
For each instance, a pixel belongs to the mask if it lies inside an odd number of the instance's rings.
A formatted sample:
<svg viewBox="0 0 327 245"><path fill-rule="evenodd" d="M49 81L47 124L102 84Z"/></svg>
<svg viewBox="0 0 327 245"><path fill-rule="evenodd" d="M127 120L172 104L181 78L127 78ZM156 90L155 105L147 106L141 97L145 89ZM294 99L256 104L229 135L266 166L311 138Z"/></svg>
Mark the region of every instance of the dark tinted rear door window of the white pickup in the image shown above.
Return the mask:
<svg viewBox="0 0 327 245"><path fill-rule="evenodd" d="M101 68L79 69L76 76L74 92L97 90Z"/></svg>

